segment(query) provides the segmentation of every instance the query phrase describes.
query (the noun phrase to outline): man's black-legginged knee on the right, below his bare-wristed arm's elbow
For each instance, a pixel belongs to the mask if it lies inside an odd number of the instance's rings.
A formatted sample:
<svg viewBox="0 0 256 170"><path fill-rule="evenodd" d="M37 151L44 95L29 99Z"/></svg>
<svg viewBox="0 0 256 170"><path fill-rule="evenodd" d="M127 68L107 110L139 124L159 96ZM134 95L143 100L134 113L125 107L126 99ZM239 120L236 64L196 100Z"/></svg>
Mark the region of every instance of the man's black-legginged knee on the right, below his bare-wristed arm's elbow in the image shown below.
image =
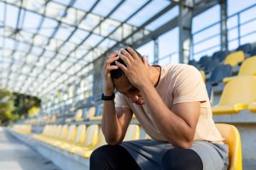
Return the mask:
<svg viewBox="0 0 256 170"><path fill-rule="evenodd" d="M202 169L200 156L194 150L174 148L166 151L162 160L163 169Z"/></svg>

